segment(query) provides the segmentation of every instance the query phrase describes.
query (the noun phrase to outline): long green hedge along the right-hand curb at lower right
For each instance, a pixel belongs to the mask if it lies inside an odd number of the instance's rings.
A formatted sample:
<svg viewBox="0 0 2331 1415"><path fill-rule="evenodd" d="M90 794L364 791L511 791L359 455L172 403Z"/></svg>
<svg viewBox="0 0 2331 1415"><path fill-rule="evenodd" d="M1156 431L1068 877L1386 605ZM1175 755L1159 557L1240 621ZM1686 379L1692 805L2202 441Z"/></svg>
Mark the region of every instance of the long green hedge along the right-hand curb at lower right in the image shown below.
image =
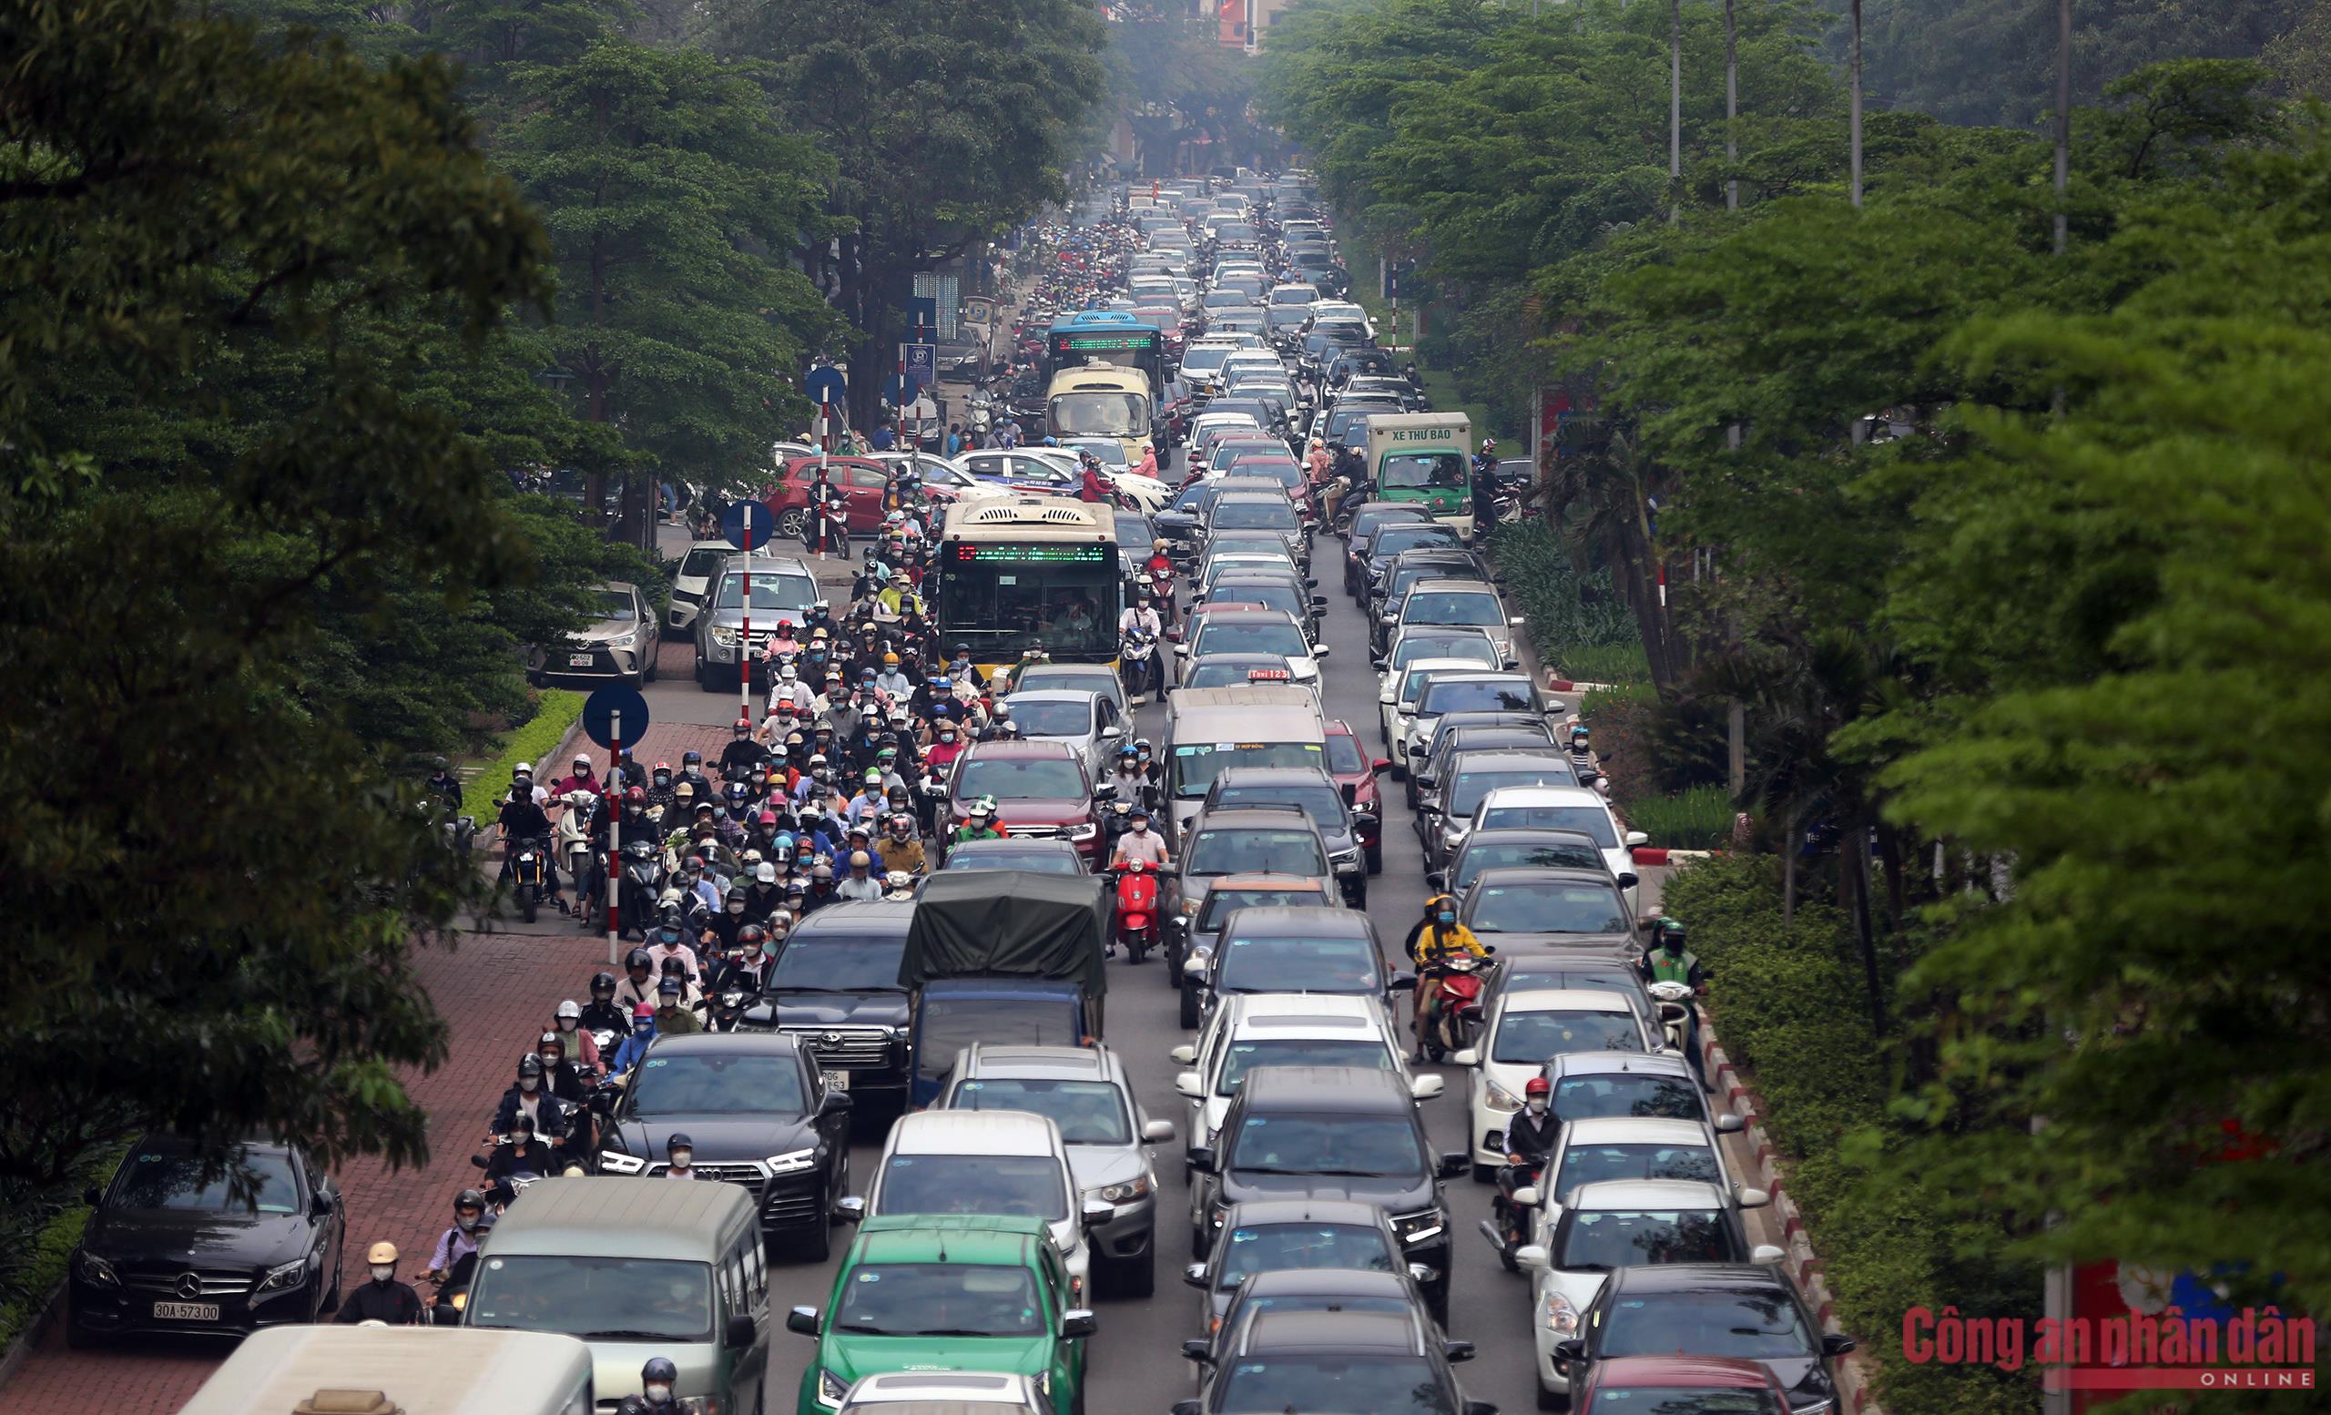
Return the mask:
<svg viewBox="0 0 2331 1415"><path fill-rule="evenodd" d="M2037 1317L2040 1273L1993 1261L1998 1231L1939 1222L1939 1196L1921 1184L1872 1177L1869 1159L1897 1133L1886 1121L1888 1056L1869 1035L1846 918L1807 900L1783 925L1781 867L1769 856L1692 863L1667 879L1660 900L1690 925L1709 967L1718 1040L1755 1072L1788 1194L1804 1210L1837 1322L1874 1361L1879 1406L1888 1415L2035 1413L2030 1373L1902 1359L1907 1308Z"/></svg>

